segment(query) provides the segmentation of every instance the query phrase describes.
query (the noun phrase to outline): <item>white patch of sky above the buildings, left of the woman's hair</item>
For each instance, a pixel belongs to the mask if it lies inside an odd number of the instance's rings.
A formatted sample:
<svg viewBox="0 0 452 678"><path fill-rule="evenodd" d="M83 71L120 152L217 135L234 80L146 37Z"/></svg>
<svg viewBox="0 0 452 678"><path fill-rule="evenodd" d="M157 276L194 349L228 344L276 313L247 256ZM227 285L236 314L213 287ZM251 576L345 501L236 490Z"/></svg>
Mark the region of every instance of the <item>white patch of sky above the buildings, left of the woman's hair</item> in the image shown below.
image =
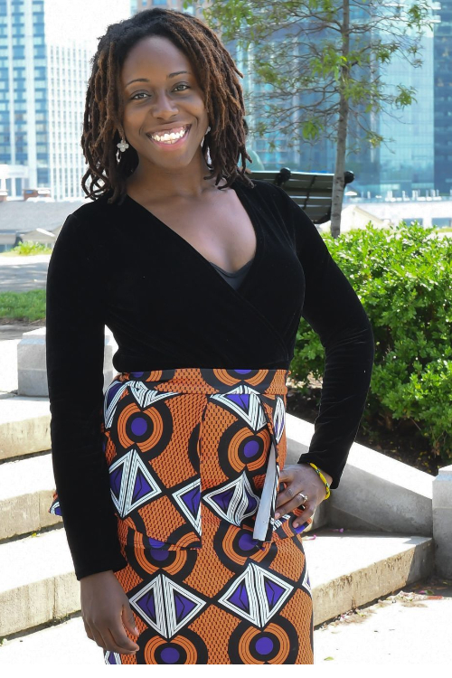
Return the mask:
<svg viewBox="0 0 452 678"><path fill-rule="evenodd" d="M109 24L130 16L130 0L45 0L46 41L87 41L93 53Z"/></svg>

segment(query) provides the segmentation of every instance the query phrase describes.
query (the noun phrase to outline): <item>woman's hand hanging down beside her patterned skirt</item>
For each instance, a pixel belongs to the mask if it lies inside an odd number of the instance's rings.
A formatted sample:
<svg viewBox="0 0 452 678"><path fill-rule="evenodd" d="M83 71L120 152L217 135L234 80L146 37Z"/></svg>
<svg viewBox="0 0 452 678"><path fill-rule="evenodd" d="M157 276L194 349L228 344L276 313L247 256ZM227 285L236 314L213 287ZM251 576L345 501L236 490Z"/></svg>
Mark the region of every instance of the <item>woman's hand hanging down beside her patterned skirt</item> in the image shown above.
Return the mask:
<svg viewBox="0 0 452 678"><path fill-rule="evenodd" d="M104 650L135 654L139 650L127 634L139 636L124 589L113 570L80 579L81 617L89 640Z"/></svg>

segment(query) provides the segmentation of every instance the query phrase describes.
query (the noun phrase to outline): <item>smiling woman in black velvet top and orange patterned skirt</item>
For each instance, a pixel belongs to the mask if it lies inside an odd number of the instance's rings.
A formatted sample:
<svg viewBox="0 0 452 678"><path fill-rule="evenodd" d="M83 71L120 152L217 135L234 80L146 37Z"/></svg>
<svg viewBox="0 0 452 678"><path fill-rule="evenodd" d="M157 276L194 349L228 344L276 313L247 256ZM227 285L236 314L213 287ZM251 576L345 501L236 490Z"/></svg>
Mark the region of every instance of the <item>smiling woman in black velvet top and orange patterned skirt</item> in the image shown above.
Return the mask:
<svg viewBox="0 0 452 678"><path fill-rule="evenodd" d="M47 280L50 511L107 664L313 663L301 532L356 435L372 328L305 212L246 176L237 75L206 25L166 9L109 26L93 60L93 202L64 223ZM301 315L324 388L311 446L285 466Z"/></svg>

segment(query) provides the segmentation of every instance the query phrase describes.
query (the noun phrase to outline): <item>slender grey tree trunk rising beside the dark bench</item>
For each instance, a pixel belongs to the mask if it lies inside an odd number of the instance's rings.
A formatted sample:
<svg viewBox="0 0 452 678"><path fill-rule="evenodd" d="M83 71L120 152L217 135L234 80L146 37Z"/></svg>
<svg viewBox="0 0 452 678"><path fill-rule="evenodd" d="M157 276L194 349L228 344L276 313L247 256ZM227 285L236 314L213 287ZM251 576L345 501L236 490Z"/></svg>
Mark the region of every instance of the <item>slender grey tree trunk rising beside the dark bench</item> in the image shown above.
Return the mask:
<svg viewBox="0 0 452 678"><path fill-rule="evenodd" d="M341 67L339 82L339 121L337 124L336 162L334 167L333 198L331 205L331 235L337 238L341 233L341 214L344 200L345 151L347 148L348 99L344 96L344 83L348 80L348 55L350 50L350 0L344 0L344 19L342 24L342 55L347 59Z"/></svg>

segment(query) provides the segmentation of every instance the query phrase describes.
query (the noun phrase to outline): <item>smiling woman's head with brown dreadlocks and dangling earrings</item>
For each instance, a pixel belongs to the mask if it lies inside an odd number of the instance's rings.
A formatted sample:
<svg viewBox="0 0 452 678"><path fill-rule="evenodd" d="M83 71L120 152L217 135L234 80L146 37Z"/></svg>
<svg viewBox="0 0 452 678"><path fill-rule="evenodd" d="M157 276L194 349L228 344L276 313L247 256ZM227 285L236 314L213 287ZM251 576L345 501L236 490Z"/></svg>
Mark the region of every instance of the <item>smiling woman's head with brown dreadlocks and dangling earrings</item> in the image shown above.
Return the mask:
<svg viewBox="0 0 452 678"><path fill-rule="evenodd" d="M89 161L83 189L92 198L109 193L110 202L124 198L127 177L134 174L133 183L139 184L153 165L152 154L164 147L160 134L181 127L186 128L184 141L166 140L172 155L159 155L160 169L184 167L191 173L193 165L186 165L191 155L208 173L203 178L209 185L214 179L218 186L225 177L221 185L231 186L238 174L250 185L245 174L250 155L245 148L240 71L215 33L195 17L189 20L190 14L173 12L170 19L168 10L151 12L152 22L150 14L141 12L109 26L99 42L82 137ZM124 152L118 156L115 148L121 142ZM202 154L193 154L200 145Z"/></svg>

